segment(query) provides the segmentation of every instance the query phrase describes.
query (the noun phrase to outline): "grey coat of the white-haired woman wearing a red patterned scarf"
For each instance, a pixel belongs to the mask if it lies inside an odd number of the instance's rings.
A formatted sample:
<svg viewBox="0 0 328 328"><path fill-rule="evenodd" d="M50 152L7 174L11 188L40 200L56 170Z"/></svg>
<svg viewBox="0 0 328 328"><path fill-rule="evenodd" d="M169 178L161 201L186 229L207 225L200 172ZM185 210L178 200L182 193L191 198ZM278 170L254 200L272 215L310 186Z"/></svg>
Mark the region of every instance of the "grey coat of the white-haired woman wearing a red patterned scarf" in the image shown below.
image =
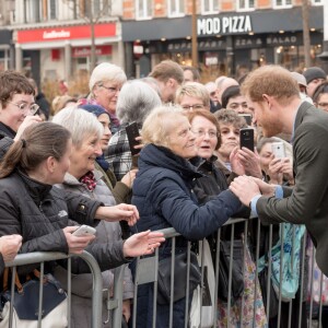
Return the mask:
<svg viewBox="0 0 328 328"><path fill-rule="evenodd" d="M96 178L96 188L94 191L90 191L82 183L75 177L66 174L63 184L58 185L67 191L79 192L92 199L101 200L105 206L116 204L112 191L108 189L106 184L103 181L102 173L98 171L94 172ZM104 244L113 241L121 239L121 231L118 222L105 222L101 221L96 226L96 243ZM60 267L57 268L55 276L63 284L67 284L67 271ZM114 273L112 270L103 271L103 288L109 290L113 293L114 286ZM72 315L71 315L71 327L90 327L91 321L91 297L92 297L92 274L72 274ZM126 266L125 268L125 285L124 285L124 300L133 297L133 282L130 269ZM107 291L103 294L103 323L107 319ZM110 327L109 324L103 327Z"/></svg>

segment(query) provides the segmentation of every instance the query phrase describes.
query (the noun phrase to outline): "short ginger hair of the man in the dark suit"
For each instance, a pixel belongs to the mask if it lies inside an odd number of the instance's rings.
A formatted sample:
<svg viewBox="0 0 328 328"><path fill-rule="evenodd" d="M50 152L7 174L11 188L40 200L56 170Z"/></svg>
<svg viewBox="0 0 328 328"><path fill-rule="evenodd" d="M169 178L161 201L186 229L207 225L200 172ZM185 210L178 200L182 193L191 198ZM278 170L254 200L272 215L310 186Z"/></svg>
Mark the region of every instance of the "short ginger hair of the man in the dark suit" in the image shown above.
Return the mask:
<svg viewBox="0 0 328 328"><path fill-rule="evenodd" d="M250 72L242 84L242 93L256 103L261 103L262 95L267 94L281 105L286 105L291 97L300 97L297 82L290 71L278 65L263 66Z"/></svg>

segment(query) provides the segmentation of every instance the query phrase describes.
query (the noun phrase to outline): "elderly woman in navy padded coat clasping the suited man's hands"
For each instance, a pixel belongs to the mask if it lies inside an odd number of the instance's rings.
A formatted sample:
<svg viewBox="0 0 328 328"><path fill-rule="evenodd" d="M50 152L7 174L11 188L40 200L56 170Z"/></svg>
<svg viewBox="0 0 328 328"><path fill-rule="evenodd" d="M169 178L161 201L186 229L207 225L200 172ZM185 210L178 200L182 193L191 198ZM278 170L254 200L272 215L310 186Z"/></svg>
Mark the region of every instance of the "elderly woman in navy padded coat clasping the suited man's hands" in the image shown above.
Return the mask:
<svg viewBox="0 0 328 328"><path fill-rule="evenodd" d="M202 239L218 231L239 211L241 202L230 190L202 206L198 203L192 187L202 175L189 162L197 156L198 148L181 108L154 108L143 122L142 141L145 145L140 152L139 173L132 187L132 203L140 213L136 231L174 227L181 234L175 244L178 255L186 253L188 241ZM172 241L166 241L159 249L160 261L172 257ZM138 328L153 327L153 297L152 283L138 286ZM186 297L174 302L173 327L185 327L185 307ZM160 304L157 298L155 327L166 328L168 320L169 304Z"/></svg>

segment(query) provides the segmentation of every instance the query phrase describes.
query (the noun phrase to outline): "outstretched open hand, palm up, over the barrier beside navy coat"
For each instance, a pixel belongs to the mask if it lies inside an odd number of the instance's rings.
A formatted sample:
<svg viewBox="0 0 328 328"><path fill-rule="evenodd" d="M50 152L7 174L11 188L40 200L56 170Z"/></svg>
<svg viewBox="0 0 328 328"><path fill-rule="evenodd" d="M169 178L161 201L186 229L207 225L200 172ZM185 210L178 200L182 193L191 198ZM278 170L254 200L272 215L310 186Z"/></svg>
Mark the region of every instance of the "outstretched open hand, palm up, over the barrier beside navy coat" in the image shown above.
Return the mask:
<svg viewBox="0 0 328 328"><path fill-rule="evenodd" d="M154 253L165 241L163 233L145 231L130 236L124 243L125 257L137 257Z"/></svg>

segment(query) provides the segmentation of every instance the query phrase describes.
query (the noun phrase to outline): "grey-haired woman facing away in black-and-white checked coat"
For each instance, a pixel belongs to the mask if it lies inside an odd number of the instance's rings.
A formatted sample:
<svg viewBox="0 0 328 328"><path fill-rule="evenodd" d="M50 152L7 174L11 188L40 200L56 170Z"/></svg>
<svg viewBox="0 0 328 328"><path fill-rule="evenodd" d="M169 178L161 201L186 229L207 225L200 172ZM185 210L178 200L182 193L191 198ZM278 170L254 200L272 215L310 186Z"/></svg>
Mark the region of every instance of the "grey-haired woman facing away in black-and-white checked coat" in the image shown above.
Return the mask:
<svg viewBox="0 0 328 328"><path fill-rule="evenodd" d="M133 166L126 127L137 122L142 124L151 110L162 104L159 93L141 80L127 82L117 99L117 116L121 121L120 129L109 140L105 159L113 166L113 171L120 180ZM137 145L142 147L142 145Z"/></svg>

